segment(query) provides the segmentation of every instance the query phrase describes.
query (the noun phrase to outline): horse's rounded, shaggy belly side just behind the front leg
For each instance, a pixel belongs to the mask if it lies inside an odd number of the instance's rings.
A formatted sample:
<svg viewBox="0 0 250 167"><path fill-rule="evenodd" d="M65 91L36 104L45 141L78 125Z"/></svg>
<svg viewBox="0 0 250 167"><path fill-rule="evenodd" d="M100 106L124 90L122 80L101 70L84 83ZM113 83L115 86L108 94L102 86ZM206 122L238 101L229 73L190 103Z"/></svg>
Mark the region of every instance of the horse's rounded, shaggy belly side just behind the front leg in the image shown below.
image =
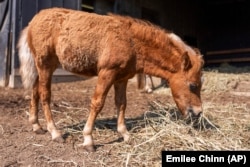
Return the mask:
<svg viewBox="0 0 250 167"><path fill-rule="evenodd" d="M97 48L81 35L62 33L58 37L56 54L62 67L80 75L96 75Z"/></svg>

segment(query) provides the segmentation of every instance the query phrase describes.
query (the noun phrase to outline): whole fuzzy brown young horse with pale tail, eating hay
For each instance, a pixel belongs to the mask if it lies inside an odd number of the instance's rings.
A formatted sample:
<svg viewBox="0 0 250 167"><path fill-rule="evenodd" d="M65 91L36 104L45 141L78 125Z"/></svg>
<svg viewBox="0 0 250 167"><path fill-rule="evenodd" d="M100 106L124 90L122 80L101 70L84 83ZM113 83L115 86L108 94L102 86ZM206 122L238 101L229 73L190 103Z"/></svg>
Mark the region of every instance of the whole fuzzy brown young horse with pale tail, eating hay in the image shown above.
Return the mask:
<svg viewBox="0 0 250 167"><path fill-rule="evenodd" d="M136 73L168 80L184 116L199 116L202 112L202 56L175 34L150 23L116 15L46 9L22 31L18 48L23 85L33 89L29 122L34 132L44 133L38 121L40 99L52 140L63 140L50 109L52 73L59 65L78 75L98 76L83 130L83 146L88 151L94 150L94 121L112 85L117 130L125 141L129 140L124 119L126 86Z"/></svg>

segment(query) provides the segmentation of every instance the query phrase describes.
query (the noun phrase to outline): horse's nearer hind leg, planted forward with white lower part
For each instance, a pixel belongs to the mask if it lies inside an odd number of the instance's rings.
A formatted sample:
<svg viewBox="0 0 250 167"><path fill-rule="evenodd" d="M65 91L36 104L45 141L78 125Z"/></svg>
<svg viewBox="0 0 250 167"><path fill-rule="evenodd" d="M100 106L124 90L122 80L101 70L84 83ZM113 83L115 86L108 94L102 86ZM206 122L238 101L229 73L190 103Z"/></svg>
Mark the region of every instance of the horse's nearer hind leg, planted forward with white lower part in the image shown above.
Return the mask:
<svg viewBox="0 0 250 167"><path fill-rule="evenodd" d="M44 68L38 69L39 74L39 96L42 103L42 109L47 121L47 130L52 135L52 140L56 140L59 142L63 142L63 138L61 135L61 132L57 130L51 109L50 109L50 100L51 100L51 79L52 79L52 73L54 72L54 69L51 69L51 67L47 66Z"/></svg>

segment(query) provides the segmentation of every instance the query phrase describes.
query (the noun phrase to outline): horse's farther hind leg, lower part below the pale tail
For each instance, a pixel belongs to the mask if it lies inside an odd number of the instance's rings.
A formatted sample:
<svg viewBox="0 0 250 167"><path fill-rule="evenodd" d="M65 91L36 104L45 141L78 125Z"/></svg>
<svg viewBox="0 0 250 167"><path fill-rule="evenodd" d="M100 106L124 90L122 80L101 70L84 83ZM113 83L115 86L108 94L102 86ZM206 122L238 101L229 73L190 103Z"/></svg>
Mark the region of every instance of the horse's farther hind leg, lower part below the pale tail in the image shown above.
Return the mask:
<svg viewBox="0 0 250 167"><path fill-rule="evenodd" d="M29 122L32 124L33 131L38 134L44 134L45 131L42 129L38 121L38 103L39 103L39 93L38 93L38 77L34 83L31 102L30 102L30 115Z"/></svg>

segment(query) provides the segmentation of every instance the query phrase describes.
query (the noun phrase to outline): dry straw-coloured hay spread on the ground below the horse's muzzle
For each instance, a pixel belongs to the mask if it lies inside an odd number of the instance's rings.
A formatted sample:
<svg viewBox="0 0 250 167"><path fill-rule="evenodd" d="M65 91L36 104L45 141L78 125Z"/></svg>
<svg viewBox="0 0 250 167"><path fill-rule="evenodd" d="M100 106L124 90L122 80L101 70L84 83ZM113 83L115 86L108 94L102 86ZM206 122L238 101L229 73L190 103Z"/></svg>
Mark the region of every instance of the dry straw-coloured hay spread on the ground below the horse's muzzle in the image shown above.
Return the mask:
<svg viewBox="0 0 250 167"><path fill-rule="evenodd" d="M250 113L245 105L217 105L218 110L215 110L211 107L215 104L205 104L205 113L198 121L198 128L195 120L180 119L179 112L171 104L163 105L155 101L150 106L143 118L128 119L132 138L129 144L116 141L115 120L98 120L93 135L97 145L101 144L102 148L89 155L88 163L101 166L160 166L161 150L250 149L247 139L250 134ZM211 109L214 111L210 112ZM241 118L238 117L239 110ZM224 116L226 111L230 111L227 119ZM77 126L80 127L78 130L71 126L65 131L82 135L84 123Z"/></svg>

